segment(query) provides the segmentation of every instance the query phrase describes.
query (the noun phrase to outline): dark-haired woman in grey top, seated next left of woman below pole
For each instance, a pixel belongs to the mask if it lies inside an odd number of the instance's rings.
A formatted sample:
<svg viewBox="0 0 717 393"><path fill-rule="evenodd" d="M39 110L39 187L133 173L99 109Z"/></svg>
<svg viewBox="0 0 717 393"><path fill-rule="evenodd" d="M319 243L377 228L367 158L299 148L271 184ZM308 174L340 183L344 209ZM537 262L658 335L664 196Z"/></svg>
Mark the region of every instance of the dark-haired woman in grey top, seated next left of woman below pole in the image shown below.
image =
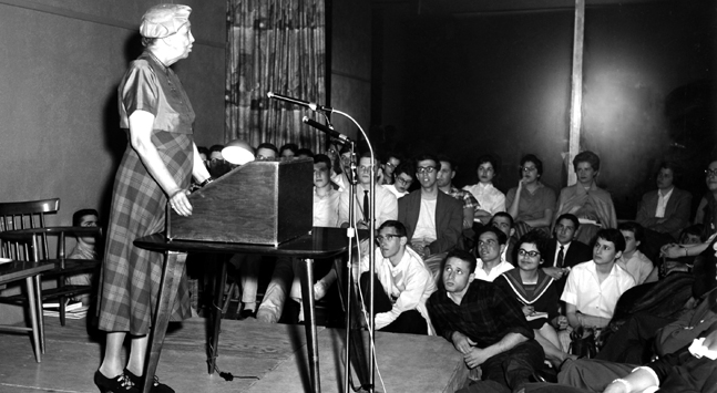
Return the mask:
<svg viewBox="0 0 717 393"><path fill-rule="evenodd" d="M505 195L506 211L515 220L515 234L520 238L532 229L542 230L546 236L553 224L555 192L540 182L543 162L529 154L521 159L521 179L518 187Z"/></svg>

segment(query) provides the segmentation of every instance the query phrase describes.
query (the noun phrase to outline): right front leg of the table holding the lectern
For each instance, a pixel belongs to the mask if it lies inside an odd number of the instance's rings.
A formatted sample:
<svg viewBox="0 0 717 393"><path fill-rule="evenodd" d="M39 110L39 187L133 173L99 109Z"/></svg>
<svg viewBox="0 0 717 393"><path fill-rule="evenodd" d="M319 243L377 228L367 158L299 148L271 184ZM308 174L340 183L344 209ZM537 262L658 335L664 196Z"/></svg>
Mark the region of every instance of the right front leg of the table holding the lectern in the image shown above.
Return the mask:
<svg viewBox="0 0 717 393"><path fill-rule="evenodd" d="M319 344L316 333L316 310L314 308L314 260L305 258L299 263L301 272L301 298L304 301L304 323L306 327L306 347L309 351L309 372L311 373L311 391L321 392L319 379Z"/></svg>

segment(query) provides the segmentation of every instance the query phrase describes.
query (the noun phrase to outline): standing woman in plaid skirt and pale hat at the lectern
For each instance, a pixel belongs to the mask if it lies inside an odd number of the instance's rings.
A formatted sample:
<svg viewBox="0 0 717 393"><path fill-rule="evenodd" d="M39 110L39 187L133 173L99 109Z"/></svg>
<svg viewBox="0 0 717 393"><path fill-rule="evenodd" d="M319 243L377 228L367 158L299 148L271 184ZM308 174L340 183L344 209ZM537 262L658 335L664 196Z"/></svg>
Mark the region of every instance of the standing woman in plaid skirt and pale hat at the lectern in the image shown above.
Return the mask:
<svg viewBox="0 0 717 393"><path fill-rule="evenodd" d="M107 332L104 358L94 374L101 392L140 392L156 303L163 255L134 247L134 239L164 229L165 208L192 214L186 195L194 176L212 182L194 144L194 111L170 69L192 51L190 13L158 4L142 17L144 53L130 64L119 87L120 127L129 145L117 169L100 289L99 328ZM190 316L186 278L173 306L174 320ZM131 338L129 361L122 347ZM154 378L153 375L150 378ZM154 379L153 392L174 392Z"/></svg>

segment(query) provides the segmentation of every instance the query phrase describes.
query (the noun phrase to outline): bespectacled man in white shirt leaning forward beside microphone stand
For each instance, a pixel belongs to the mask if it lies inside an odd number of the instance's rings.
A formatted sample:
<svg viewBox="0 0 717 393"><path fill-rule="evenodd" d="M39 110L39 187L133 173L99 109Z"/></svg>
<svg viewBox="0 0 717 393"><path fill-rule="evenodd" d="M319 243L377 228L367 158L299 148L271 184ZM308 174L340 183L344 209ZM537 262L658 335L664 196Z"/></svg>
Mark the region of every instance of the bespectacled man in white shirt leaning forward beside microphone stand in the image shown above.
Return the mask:
<svg viewBox="0 0 717 393"><path fill-rule="evenodd" d="M369 256L361 258L360 286L368 309L368 286L375 283L376 330L393 333L433 334L426 301L436 291L436 282L423 260L406 247L406 227L388 220L378 229L375 271L369 273Z"/></svg>

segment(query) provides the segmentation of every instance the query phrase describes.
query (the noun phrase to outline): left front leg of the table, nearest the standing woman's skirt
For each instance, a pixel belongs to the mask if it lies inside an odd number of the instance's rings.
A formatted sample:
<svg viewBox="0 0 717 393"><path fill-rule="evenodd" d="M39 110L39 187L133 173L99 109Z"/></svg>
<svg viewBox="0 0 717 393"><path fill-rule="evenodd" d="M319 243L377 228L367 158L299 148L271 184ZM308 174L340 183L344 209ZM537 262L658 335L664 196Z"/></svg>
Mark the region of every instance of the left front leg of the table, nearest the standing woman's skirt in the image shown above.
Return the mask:
<svg viewBox="0 0 717 393"><path fill-rule="evenodd" d="M186 262L185 252L167 251L164 255L164 268L162 269L162 280L160 281L160 293L157 294L157 304L152 320L150 340L147 342L150 358L145 362L144 385L142 392L150 393L154 374L160 364L160 354L164 335L167 331L172 306L176 300L180 280L184 273L184 263Z"/></svg>

